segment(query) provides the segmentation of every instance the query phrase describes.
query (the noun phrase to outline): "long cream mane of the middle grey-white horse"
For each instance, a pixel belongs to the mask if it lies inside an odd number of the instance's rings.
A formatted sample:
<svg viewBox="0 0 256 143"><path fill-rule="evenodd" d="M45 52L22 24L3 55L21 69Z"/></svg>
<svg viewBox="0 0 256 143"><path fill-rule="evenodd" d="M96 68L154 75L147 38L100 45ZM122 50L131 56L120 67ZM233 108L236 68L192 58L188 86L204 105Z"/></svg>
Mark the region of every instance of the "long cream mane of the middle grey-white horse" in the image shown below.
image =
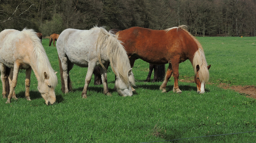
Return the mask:
<svg viewBox="0 0 256 143"><path fill-rule="evenodd" d="M131 66L121 41L118 40L116 35L112 34L111 31L107 32L103 27L94 27L92 29L97 28L100 29L96 43L100 65L104 68L101 62L101 50L106 48L112 71L116 75L119 75L127 87L129 86L129 82L131 82L132 85L135 85L134 77L130 77L130 80L128 77L128 71L131 69Z"/></svg>

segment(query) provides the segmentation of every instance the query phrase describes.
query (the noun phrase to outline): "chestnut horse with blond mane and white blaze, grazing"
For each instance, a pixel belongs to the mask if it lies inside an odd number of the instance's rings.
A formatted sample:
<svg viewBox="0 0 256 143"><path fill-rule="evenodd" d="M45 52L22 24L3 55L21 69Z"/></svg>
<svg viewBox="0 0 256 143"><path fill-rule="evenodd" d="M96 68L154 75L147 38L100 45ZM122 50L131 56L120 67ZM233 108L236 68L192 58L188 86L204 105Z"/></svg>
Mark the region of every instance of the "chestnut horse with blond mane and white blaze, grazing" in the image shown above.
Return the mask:
<svg viewBox="0 0 256 143"><path fill-rule="evenodd" d="M187 28L185 25L166 30L131 27L117 32L116 35L123 42L131 67L138 58L150 64L169 63L164 82L160 86L162 92L166 92L166 85L172 74L173 92L182 92L178 87L178 67L181 62L189 59L195 72L197 92L204 93L211 65L207 66L201 44L185 28Z"/></svg>

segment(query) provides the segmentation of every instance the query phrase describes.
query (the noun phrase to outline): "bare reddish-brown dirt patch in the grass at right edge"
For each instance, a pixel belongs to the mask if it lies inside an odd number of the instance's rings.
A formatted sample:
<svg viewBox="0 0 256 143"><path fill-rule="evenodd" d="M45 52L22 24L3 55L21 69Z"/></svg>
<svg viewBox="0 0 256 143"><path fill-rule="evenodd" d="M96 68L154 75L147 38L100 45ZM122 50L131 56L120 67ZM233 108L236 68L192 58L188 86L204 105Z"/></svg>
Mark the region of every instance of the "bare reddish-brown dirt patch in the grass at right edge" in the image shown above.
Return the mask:
<svg viewBox="0 0 256 143"><path fill-rule="evenodd" d="M238 93L246 94L248 98L256 99L256 86L230 86L229 84L220 83L218 87L223 89L233 89Z"/></svg>

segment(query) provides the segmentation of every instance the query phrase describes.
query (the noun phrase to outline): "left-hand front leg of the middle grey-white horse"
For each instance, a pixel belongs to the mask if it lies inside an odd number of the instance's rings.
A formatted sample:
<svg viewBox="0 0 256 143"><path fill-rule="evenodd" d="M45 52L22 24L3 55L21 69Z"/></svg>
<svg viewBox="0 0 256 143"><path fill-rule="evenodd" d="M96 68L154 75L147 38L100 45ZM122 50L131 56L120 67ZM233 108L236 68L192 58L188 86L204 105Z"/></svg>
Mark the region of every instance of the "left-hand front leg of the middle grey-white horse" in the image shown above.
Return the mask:
<svg viewBox="0 0 256 143"><path fill-rule="evenodd" d="M87 98L87 89L88 89L88 86L91 82L91 79L92 79L92 74L93 74L93 70L94 70L94 67L95 67L95 64L91 64L89 63L88 64L88 70L87 70L87 74L86 74L86 77L85 77L85 87L83 87L83 92L82 92L82 98Z"/></svg>

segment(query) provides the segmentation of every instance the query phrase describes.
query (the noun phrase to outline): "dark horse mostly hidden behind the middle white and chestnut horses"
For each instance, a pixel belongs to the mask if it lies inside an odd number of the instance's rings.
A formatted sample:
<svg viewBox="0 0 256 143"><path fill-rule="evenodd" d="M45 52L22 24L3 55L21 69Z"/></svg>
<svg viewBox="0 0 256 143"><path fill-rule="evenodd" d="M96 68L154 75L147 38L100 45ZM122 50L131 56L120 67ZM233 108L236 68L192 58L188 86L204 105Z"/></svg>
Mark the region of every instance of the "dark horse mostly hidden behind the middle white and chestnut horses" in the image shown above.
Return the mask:
<svg viewBox="0 0 256 143"><path fill-rule="evenodd" d="M121 31L121 30L111 29L111 31L114 32L114 34L116 34L118 31ZM154 79L152 82L163 81L164 75L165 75L165 65L164 64L163 65L149 64L149 74L148 74L145 82L150 82L150 77L151 77L153 70L154 70ZM95 67L93 74L94 74L94 85L102 84L99 66Z"/></svg>

